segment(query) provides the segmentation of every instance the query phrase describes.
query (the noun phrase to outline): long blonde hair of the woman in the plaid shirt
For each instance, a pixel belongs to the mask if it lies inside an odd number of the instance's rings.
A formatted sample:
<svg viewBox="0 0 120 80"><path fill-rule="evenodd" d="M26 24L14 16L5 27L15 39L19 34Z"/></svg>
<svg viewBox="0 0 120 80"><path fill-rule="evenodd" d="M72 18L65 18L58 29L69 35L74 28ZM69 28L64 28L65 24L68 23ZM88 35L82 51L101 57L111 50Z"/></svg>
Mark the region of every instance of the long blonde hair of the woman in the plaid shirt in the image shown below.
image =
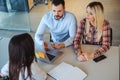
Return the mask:
<svg viewBox="0 0 120 80"><path fill-rule="evenodd" d="M97 28L97 41L100 40L102 35L102 27L104 24L104 8L102 3L100 2L91 2L87 5L87 8L90 8L92 11L92 14L95 18L95 27ZM86 32L89 31L89 22L86 22Z"/></svg>

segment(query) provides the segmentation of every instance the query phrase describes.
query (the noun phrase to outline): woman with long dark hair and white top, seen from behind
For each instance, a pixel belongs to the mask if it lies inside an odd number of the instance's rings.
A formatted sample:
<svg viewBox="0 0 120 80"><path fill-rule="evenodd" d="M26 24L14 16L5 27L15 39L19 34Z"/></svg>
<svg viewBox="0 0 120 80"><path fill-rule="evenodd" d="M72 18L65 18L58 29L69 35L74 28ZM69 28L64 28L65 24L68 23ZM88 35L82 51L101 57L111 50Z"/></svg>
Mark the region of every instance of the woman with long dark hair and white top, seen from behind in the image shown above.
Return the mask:
<svg viewBox="0 0 120 80"><path fill-rule="evenodd" d="M15 35L9 42L9 62L1 72L10 80L45 80L46 74L35 59L32 37L28 33Z"/></svg>

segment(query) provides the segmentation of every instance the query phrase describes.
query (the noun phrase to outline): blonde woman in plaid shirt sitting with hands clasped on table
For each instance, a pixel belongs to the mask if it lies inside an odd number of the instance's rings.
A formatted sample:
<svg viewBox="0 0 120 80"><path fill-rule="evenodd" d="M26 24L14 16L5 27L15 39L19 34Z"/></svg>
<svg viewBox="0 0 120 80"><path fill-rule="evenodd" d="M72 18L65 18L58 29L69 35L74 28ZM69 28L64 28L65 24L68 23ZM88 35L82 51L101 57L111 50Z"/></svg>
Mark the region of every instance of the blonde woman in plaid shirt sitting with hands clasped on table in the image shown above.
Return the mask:
<svg viewBox="0 0 120 80"><path fill-rule="evenodd" d="M74 48L79 61L87 61L105 53L110 48L110 25L104 19L104 8L100 2L91 2L86 7L86 18L80 21L74 39ZM101 45L92 53L83 53L81 41L85 44Z"/></svg>

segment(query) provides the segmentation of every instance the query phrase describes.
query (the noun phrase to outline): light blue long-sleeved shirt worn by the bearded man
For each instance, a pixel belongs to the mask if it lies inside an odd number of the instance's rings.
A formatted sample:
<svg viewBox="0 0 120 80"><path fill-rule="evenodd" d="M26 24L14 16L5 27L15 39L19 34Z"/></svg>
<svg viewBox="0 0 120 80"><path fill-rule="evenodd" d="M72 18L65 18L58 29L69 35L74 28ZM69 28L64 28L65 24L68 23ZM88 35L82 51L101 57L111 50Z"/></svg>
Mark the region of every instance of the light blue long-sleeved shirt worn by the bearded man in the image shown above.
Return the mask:
<svg viewBox="0 0 120 80"><path fill-rule="evenodd" d="M53 12L50 11L42 17L35 34L37 44L43 44L43 35L48 29L51 34L51 39L54 43L64 43L65 47L73 43L76 34L77 21L75 16L65 11L62 18L56 20Z"/></svg>

